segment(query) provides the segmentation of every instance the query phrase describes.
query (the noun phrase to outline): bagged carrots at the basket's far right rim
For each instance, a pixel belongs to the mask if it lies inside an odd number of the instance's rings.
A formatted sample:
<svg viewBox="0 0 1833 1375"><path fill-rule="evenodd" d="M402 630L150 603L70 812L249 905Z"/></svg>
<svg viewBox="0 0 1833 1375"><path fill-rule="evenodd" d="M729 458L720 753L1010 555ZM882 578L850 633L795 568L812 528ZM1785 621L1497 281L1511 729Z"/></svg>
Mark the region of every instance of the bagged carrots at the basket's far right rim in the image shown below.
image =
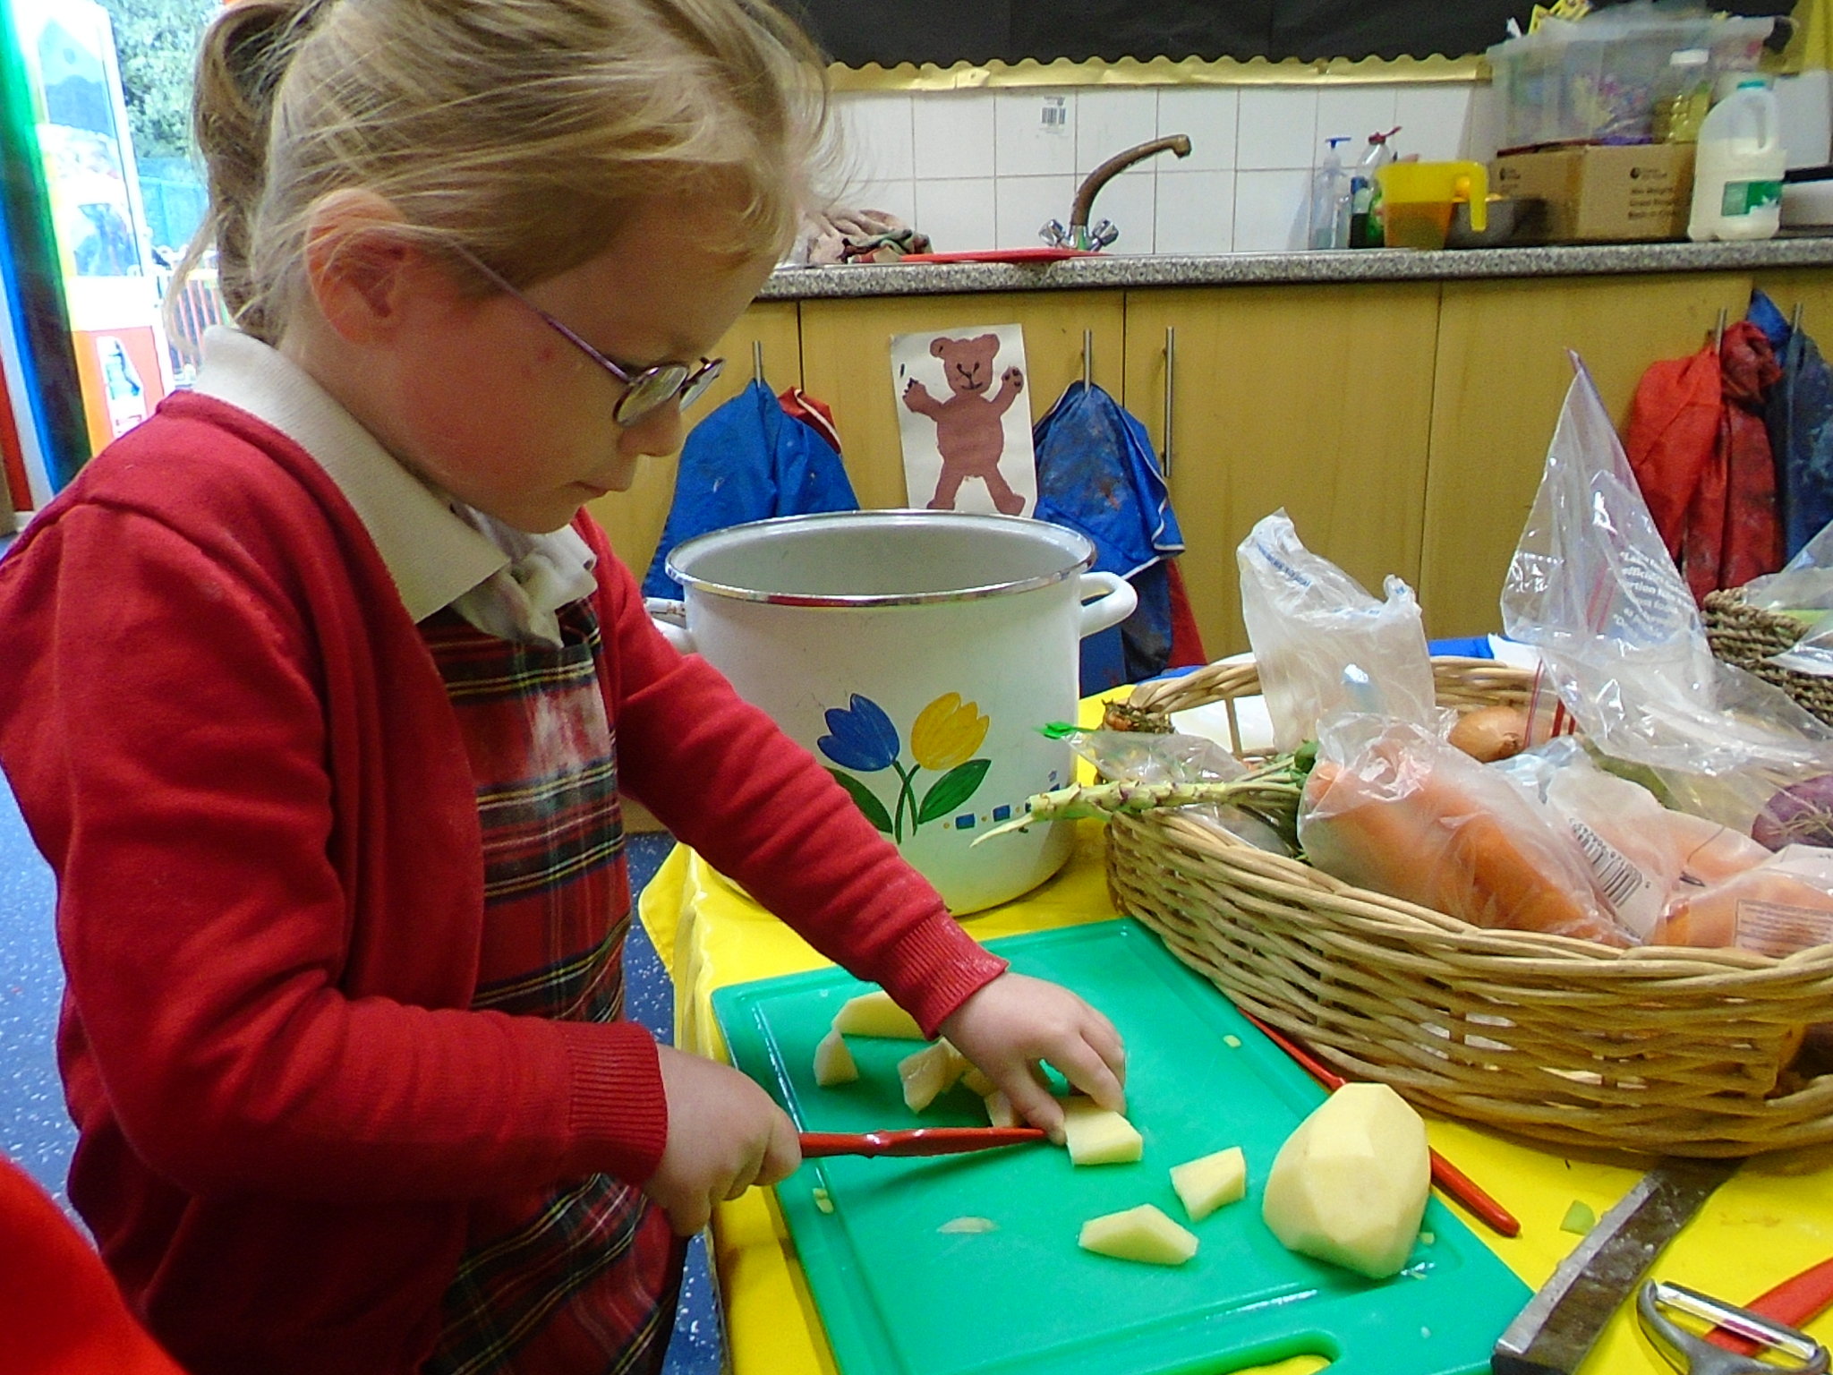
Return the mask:
<svg viewBox="0 0 1833 1375"><path fill-rule="evenodd" d="M1789 845L1723 884L1683 884L1653 946L1738 946L1762 955L1833 942L1833 851Z"/></svg>

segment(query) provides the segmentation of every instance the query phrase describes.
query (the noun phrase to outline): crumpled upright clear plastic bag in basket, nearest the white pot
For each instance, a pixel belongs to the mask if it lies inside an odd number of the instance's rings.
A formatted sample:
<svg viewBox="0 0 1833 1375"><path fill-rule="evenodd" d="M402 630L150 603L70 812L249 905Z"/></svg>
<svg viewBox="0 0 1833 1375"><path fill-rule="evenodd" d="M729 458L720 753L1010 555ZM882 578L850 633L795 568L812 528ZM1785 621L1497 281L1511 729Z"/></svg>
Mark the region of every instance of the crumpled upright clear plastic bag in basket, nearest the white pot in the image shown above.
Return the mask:
<svg viewBox="0 0 1833 1375"><path fill-rule="evenodd" d="M1437 728L1432 653L1413 588L1388 578L1386 600L1307 550L1285 510L1265 517L1235 550L1246 622L1274 742L1296 750L1333 711L1355 708L1344 669L1358 666L1380 691L1382 713Z"/></svg>

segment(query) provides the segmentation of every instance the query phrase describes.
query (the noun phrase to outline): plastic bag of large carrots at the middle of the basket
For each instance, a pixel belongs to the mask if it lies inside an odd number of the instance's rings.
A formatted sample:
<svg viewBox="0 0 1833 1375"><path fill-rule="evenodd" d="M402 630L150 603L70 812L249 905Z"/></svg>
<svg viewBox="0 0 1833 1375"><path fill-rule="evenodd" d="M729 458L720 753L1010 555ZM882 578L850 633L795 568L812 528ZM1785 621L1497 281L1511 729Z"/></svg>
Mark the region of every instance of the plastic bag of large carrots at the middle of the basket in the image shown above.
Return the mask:
<svg viewBox="0 0 1833 1375"><path fill-rule="evenodd" d="M1338 719L1298 836L1318 869L1474 926L1628 946L1576 842L1505 777L1426 732Z"/></svg>

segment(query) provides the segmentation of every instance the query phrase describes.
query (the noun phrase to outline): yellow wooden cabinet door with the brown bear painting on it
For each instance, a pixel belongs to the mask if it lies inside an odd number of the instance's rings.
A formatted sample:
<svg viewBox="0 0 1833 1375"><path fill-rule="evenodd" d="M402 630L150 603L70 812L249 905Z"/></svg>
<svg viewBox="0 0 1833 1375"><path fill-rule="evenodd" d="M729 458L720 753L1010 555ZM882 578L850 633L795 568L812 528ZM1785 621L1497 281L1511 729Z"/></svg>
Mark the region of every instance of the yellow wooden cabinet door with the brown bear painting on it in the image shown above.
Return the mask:
<svg viewBox="0 0 1833 1375"><path fill-rule="evenodd" d="M1120 292L1003 292L988 295L865 297L805 301L803 385L834 409L840 447L860 506L907 502L898 438L898 389L891 337L977 324L1025 326L1025 396L1032 422L1081 378L1083 332L1092 334L1094 383L1114 396L1122 378Z"/></svg>

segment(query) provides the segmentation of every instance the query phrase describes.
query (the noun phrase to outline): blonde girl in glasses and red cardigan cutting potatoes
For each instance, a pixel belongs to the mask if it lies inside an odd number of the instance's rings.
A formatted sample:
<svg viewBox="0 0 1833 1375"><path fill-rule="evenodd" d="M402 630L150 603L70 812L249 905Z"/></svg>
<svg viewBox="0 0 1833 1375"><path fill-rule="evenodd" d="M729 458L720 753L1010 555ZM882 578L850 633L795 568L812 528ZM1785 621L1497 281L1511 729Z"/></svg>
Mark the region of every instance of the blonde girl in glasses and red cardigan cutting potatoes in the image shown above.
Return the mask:
<svg viewBox="0 0 1833 1375"><path fill-rule="evenodd" d="M1045 1128L1113 1027L1004 974L649 625L581 504L788 242L819 66L755 0L244 0L198 387L0 565L59 876L70 1194L196 1375L660 1366L678 1238L797 1166L620 1018L629 790Z"/></svg>

